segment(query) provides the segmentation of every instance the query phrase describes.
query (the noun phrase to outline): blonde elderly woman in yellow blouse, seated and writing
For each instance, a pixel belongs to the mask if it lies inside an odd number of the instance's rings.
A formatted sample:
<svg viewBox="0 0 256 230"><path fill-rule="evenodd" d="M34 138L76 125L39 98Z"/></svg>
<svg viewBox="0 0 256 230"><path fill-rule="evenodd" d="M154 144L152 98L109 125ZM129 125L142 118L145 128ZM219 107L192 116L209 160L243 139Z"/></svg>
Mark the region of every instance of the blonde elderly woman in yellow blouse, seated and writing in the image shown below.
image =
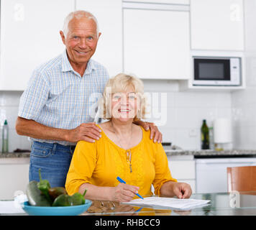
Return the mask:
<svg viewBox="0 0 256 230"><path fill-rule="evenodd" d="M140 79L123 73L106 83L103 111L109 121L99 125L101 139L76 145L65 183L70 195L87 190L88 199L127 202L135 193L152 195L153 185L157 195L191 196L190 185L170 175L162 144L133 123L145 115L143 90Z"/></svg>

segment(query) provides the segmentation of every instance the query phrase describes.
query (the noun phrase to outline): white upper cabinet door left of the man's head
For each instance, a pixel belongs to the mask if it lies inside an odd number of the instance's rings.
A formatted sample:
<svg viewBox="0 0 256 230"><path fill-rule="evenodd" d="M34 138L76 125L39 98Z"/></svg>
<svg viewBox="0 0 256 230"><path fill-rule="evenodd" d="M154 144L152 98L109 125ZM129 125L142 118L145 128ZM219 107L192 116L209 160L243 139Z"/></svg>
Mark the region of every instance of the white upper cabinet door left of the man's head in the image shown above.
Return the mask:
<svg viewBox="0 0 256 230"><path fill-rule="evenodd" d="M64 18L74 0L1 1L0 90L23 91L37 65L59 55Z"/></svg>

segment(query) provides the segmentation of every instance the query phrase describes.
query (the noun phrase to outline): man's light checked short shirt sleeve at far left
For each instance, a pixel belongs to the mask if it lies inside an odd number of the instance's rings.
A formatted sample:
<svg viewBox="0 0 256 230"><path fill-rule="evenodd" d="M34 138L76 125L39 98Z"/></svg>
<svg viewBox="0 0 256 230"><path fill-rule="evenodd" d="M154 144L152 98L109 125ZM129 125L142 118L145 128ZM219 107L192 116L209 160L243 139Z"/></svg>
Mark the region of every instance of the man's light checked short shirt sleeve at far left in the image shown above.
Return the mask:
<svg viewBox="0 0 256 230"><path fill-rule="evenodd" d="M20 98L18 116L37 121L42 107L47 102L49 91L50 83L47 78L38 70L34 70L27 89Z"/></svg>

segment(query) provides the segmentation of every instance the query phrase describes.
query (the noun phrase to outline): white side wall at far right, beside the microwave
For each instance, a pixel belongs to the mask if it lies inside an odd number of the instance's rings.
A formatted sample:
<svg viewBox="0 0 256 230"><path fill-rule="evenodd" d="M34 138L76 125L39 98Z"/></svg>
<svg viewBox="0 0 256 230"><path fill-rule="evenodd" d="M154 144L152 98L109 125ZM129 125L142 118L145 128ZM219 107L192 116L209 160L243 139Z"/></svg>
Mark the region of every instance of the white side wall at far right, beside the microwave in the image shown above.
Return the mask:
<svg viewBox="0 0 256 230"><path fill-rule="evenodd" d="M232 93L234 148L256 148L256 0L244 1L246 89Z"/></svg>

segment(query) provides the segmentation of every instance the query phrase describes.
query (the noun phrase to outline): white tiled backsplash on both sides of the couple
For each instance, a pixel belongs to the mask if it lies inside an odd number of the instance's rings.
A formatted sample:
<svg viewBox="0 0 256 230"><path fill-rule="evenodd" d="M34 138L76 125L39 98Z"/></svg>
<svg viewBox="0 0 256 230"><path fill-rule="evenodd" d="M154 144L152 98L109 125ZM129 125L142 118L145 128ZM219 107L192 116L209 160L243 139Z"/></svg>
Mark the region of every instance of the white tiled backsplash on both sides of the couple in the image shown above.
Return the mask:
<svg viewBox="0 0 256 230"><path fill-rule="evenodd" d="M172 142L183 149L200 149L200 128L203 119L209 126L219 117L231 117L231 94L228 92L180 92L178 83L173 80L144 80L145 92L166 93L167 103L163 111L153 108L160 114L167 111L166 124L159 126L163 132L163 141ZM27 137L19 136L15 130L19 98L22 92L1 91L0 111L1 123L7 119L9 124L9 151L14 149L30 149ZM153 105L154 106L154 105ZM162 116L162 115L161 115ZM148 121L159 119L149 118Z"/></svg>

